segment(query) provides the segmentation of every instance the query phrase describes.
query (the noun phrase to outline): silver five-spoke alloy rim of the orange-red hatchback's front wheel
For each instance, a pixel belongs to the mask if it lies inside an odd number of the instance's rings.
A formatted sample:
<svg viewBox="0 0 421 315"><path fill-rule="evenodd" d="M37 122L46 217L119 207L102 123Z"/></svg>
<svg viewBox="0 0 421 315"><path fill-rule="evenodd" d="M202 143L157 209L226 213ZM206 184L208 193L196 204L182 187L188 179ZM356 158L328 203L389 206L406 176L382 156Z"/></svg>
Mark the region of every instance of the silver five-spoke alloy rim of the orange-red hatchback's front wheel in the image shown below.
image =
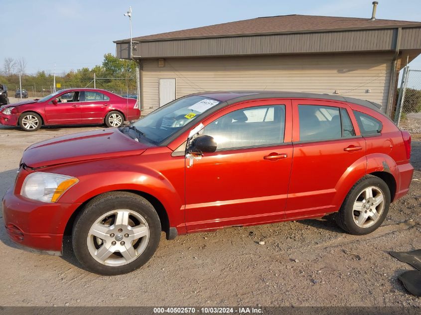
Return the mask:
<svg viewBox="0 0 421 315"><path fill-rule="evenodd" d="M122 266L137 259L149 240L149 227L139 213L114 210L92 224L88 233L88 250L92 257L107 266Z"/></svg>

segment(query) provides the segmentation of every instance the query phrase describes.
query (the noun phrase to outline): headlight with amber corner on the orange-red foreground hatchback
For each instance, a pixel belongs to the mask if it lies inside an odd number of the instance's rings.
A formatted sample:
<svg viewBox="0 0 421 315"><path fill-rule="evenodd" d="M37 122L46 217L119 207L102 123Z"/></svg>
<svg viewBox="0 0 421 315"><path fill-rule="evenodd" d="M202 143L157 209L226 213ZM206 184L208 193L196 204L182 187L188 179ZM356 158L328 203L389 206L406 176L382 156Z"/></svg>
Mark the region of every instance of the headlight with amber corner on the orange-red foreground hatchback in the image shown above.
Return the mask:
<svg viewBox="0 0 421 315"><path fill-rule="evenodd" d="M45 203L55 203L77 182L79 180L71 176L35 172L25 178L20 195Z"/></svg>

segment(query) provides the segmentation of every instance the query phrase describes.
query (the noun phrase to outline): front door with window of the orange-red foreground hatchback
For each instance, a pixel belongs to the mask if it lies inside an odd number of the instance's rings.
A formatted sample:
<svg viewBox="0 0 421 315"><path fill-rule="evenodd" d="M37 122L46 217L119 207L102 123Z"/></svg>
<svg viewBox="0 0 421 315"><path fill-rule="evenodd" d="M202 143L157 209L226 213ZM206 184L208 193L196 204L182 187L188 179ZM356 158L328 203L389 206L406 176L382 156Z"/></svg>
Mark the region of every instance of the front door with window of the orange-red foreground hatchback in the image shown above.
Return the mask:
<svg viewBox="0 0 421 315"><path fill-rule="evenodd" d="M199 134L212 136L217 149L200 159L186 155L187 231L282 220L292 162L290 101L234 105L203 124Z"/></svg>

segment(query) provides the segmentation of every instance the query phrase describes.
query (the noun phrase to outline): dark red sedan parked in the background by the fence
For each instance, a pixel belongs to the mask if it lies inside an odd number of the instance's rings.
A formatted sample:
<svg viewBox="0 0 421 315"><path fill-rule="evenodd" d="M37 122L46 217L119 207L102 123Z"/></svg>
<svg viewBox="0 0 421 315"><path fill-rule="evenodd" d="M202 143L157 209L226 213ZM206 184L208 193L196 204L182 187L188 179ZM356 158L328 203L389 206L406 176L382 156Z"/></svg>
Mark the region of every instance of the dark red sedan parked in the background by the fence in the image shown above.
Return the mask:
<svg viewBox="0 0 421 315"><path fill-rule="evenodd" d="M0 124L20 126L25 131L41 125L103 124L121 126L125 120L140 117L138 102L98 89L66 89L40 100L1 108Z"/></svg>

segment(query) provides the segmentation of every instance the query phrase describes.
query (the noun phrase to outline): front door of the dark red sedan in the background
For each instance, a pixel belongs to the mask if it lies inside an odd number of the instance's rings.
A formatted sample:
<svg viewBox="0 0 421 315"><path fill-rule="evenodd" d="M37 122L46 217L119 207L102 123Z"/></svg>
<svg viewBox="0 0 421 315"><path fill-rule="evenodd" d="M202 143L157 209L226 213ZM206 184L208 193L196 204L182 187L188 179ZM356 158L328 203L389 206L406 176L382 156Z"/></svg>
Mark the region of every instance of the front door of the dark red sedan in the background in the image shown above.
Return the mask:
<svg viewBox="0 0 421 315"><path fill-rule="evenodd" d="M57 103L54 104L53 100ZM48 124L75 124L81 122L79 92L60 94L45 104L45 116Z"/></svg>

